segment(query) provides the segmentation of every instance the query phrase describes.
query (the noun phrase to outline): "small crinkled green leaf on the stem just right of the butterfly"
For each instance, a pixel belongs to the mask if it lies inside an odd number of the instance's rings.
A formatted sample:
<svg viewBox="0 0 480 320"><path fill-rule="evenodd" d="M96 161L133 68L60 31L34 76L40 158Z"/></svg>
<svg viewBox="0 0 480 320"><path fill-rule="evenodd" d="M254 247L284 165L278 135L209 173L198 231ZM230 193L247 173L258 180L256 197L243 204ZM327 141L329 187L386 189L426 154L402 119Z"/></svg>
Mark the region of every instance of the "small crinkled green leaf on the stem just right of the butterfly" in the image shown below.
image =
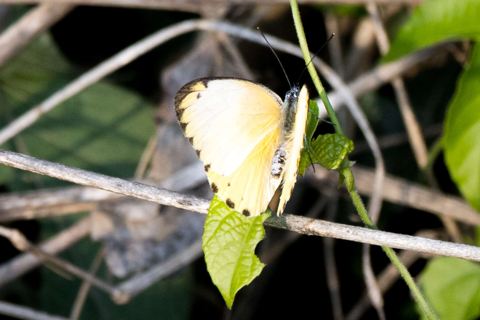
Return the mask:
<svg viewBox="0 0 480 320"><path fill-rule="evenodd" d="M342 134L327 133L319 135L312 142L307 140L300 154L299 173L303 176L306 167L312 163L327 169L336 169L351 151L353 142Z"/></svg>

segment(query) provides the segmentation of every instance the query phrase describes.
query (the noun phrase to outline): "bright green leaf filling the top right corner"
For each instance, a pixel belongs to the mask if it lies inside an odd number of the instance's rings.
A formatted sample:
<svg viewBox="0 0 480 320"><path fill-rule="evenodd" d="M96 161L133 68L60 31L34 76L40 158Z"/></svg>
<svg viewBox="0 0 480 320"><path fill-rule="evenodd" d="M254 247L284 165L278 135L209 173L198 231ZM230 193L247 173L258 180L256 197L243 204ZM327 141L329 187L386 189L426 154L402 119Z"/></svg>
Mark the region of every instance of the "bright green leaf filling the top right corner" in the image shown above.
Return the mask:
<svg viewBox="0 0 480 320"><path fill-rule="evenodd" d="M479 0L426 0L398 31L384 61L442 40L480 38Z"/></svg>

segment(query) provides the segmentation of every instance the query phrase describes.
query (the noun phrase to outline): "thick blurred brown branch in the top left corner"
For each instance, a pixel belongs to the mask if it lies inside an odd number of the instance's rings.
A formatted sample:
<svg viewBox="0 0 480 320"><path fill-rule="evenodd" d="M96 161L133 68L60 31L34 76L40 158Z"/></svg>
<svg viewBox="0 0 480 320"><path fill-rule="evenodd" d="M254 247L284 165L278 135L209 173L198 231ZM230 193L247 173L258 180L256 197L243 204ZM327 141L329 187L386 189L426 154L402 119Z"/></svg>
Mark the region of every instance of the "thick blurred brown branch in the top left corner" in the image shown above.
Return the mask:
<svg viewBox="0 0 480 320"><path fill-rule="evenodd" d="M74 6L69 2L40 3L0 35L0 66L36 35L56 24Z"/></svg>

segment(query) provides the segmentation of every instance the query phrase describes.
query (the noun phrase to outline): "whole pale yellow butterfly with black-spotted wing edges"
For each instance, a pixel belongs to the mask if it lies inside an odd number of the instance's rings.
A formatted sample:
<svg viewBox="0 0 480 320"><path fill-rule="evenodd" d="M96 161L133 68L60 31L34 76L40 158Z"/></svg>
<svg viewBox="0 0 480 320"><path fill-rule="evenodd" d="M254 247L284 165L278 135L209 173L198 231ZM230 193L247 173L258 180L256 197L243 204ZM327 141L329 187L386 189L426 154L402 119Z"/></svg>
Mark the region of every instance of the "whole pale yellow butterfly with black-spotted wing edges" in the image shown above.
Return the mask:
<svg viewBox="0 0 480 320"><path fill-rule="evenodd" d="M246 216L263 213L281 186L277 215L297 181L308 115L308 90L285 101L260 83L200 78L175 96L175 112L213 192Z"/></svg>

